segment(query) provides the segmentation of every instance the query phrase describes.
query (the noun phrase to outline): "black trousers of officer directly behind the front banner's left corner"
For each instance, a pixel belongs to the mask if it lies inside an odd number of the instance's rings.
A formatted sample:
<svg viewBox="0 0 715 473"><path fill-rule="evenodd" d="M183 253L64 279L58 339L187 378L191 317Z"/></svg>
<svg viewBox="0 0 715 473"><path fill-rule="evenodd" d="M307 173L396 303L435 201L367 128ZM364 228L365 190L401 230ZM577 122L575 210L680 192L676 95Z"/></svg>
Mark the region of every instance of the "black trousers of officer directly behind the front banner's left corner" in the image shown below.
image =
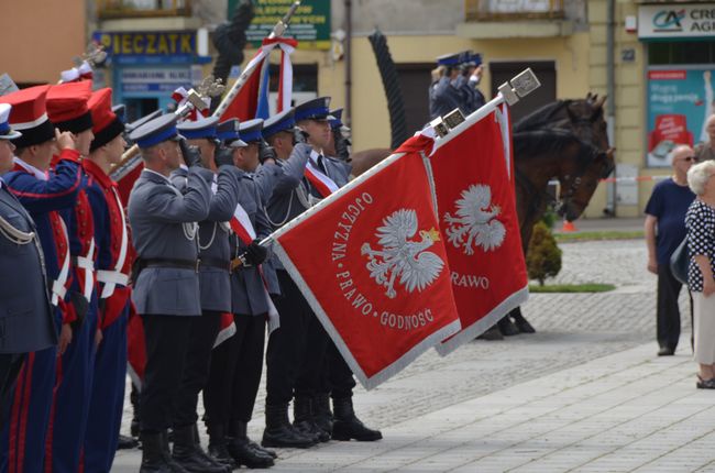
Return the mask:
<svg viewBox="0 0 715 473"><path fill-rule="evenodd" d="M278 270L282 296L274 299L280 328L268 339L266 351L266 405L287 405L293 398L306 349L308 326L315 315L288 273Z"/></svg>

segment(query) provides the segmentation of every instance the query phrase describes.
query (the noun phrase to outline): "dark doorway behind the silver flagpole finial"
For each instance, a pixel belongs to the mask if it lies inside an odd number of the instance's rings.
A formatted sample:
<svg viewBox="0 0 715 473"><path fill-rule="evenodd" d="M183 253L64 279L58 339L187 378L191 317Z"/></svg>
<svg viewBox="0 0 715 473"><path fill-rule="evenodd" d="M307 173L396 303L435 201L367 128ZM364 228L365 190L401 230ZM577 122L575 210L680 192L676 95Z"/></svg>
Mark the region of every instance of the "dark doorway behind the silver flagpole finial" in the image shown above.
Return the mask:
<svg viewBox="0 0 715 473"><path fill-rule="evenodd" d="M525 61L525 62L492 62L490 74L492 76L492 97L498 94L498 87L510 80L527 67L534 70L539 78L541 87L520 99L510 108L512 121L528 116L539 107L546 106L557 99L557 69L553 61Z"/></svg>

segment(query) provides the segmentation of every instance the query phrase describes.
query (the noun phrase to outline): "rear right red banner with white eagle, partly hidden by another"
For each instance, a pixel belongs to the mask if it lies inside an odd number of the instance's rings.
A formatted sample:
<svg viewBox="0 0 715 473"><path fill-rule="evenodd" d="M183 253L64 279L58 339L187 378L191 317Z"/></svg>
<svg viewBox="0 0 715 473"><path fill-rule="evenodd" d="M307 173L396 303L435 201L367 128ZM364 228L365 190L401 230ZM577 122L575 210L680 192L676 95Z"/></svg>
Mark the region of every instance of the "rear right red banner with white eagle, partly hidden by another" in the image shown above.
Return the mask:
<svg viewBox="0 0 715 473"><path fill-rule="evenodd" d="M482 110L437 140L430 156L440 229L462 322L460 333L437 346L442 355L483 333L529 296L508 109L504 105L487 114Z"/></svg>

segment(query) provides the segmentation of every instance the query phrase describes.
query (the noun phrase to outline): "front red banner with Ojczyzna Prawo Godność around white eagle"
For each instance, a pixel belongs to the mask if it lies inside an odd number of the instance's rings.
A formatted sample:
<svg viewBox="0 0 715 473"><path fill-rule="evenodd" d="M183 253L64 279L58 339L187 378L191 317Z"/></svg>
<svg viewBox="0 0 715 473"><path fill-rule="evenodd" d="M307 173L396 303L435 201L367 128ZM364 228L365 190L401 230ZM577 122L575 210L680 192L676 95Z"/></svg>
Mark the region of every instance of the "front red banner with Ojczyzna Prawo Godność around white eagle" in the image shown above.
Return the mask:
<svg viewBox="0 0 715 473"><path fill-rule="evenodd" d="M274 235L274 251L366 388L459 331L419 154L388 157Z"/></svg>

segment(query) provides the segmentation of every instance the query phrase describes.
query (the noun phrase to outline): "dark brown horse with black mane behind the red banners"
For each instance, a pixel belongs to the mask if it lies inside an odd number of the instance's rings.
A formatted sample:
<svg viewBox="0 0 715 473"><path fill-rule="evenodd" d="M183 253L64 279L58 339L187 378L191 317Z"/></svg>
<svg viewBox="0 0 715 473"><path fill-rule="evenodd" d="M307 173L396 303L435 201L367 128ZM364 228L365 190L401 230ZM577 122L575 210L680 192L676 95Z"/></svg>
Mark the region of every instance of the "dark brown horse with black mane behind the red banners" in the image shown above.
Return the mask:
<svg viewBox="0 0 715 473"><path fill-rule="evenodd" d="M515 190L525 254L534 223L552 201L547 193L551 179L558 179L561 188L557 211L573 221L588 205L598 180L612 173L605 100L591 94L585 99L558 100L514 125ZM360 176L391 153L389 148L354 153L352 174Z"/></svg>

